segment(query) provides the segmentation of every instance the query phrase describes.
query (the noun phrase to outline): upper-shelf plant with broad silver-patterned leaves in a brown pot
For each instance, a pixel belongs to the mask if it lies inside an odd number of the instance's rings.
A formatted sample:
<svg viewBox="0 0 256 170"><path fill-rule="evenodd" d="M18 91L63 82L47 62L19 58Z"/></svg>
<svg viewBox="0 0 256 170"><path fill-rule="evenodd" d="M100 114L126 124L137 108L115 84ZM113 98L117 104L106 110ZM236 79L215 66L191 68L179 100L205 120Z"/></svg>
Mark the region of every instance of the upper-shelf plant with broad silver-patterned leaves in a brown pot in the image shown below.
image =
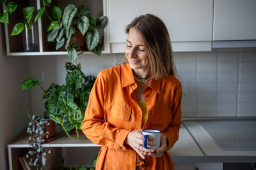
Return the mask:
<svg viewBox="0 0 256 170"><path fill-rule="evenodd" d="M104 29L107 23L108 18L105 16L97 19L92 17L86 4L80 5L78 8L74 4L68 4L63 11L61 22L58 22L58 26L49 31L47 41L55 40L56 50L65 45L68 56L74 61L82 53L81 44L76 40L70 44L70 40L78 34L78 37L84 36L86 40L86 46L84 46L86 51L100 55L104 45L104 37L100 41L97 29ZM77 53L77 50L80 50L80 53Z"/></svg>

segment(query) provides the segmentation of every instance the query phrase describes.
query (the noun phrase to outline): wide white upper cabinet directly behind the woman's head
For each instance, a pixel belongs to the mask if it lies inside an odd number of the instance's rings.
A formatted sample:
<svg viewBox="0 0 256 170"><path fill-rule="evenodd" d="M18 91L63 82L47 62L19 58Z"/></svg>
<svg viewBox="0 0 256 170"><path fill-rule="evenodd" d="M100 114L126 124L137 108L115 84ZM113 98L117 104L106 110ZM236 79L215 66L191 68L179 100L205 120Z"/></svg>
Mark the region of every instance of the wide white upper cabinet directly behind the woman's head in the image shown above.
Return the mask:
<svg viewBox="0 0 256 170"><path fill-rule="evenodd" d="M174 52L211 50L213 0L105 0L105 4L108 52L124 52L125 26L147 13L164 21Z"/></svg>

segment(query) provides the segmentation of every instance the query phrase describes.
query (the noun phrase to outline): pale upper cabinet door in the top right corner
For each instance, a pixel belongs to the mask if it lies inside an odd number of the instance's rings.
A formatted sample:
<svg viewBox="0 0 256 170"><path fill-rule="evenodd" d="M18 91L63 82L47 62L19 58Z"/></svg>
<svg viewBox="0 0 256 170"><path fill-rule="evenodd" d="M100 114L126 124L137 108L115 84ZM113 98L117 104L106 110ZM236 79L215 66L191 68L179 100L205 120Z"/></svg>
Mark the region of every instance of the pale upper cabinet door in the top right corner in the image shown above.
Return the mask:
<svg viewBox="0 0 256 170"><path fill-rule="evenodd" d="M215 0L213 40L256 39L255 0Z"/></svg>

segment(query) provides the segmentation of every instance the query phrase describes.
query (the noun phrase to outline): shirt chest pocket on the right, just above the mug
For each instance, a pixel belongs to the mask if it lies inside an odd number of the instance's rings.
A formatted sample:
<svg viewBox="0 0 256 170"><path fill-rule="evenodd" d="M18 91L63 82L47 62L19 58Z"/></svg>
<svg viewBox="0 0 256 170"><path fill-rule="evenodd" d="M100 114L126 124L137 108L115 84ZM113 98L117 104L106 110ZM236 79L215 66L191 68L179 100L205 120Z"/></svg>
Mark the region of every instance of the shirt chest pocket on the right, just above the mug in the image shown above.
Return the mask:
<svg viewBox="0 0 256 170"><path fill-rule="evenodd" d="M167 110L155 111L152 116L152 125L161 125L172 122L172 113Z"/></svg>

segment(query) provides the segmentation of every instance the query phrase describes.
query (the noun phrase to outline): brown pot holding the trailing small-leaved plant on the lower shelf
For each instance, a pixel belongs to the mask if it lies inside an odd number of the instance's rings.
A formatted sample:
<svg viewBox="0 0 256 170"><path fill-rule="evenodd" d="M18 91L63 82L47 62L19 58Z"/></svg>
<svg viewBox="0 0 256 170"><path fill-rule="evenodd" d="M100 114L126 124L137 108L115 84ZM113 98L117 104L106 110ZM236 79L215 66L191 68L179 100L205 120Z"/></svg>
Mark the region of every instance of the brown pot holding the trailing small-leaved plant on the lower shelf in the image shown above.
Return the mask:
<svg viewBox="0 0 256 170"><path fill-rule="evenodd" d="M44 143L47 143L49 141L53 141L54 139L56 139L56 133L55 133L55 122L53 120L49 120L49 125L46 125L44 128L44 133L43 134L38 134L38 136L41 136L42 139L44 139ZM36 124L38 124L38 122L36 121ZM46 138L47 133L48 134L48 138ZM34 141L36 140L36 138L33 139Z"/></svg>

